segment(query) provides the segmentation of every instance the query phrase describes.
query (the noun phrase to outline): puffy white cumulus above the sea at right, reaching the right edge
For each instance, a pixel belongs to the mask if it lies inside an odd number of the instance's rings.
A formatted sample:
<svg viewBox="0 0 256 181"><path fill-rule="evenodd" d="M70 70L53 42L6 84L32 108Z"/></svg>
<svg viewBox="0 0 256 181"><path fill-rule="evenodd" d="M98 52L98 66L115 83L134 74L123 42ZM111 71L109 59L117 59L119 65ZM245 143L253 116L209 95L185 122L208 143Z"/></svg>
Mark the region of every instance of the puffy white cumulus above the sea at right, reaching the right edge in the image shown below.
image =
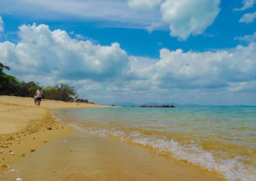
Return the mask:
<svg viewBox="0 0 256 181"><path fill-rule="evenodd" d="M163 48L161 59L149 69L150 77L159 87L179 89L216 89L227 87L228 82L252 81L256 78L255 45L240 45L234 53L171 52Z"/></svg>

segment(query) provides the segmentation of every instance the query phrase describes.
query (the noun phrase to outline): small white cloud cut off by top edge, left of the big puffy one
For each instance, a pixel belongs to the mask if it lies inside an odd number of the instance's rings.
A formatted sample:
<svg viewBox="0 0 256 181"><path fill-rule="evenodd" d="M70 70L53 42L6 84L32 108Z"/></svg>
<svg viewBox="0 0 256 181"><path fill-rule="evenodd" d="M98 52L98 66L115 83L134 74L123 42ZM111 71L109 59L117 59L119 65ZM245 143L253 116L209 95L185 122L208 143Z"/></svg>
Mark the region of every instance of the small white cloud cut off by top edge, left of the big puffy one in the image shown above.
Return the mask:
<svg viewBox="0 0 256 181"><path fill-rule="evenodd" d="M128 6L137 9L152 9L158 6L163 0L128 0Z"/></svg>

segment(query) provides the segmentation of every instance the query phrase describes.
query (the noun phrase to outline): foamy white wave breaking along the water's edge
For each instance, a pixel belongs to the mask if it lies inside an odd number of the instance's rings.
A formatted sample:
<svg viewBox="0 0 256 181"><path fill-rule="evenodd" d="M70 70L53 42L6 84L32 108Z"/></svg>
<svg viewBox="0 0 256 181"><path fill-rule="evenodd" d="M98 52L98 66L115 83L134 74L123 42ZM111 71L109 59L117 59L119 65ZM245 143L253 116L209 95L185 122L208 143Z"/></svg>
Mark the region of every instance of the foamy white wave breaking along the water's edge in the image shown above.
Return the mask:
<svg viewBox="0 0 256 181"><path fill-rule="evenodd" d="M244 159L248 159L246 156L236 156L233 159L214 157L211 152L203 150L193 140L186 145L180 145L178 141L168 140L166 136L143 134L140 131L123 131L116 127L83 127L83 124L76 123L70 123L70 126L100 136L118 138L142 147L150 147L158 154L166 154L173 159L186 161L209 171L216 171L228 180L256 180L255 168L242 163Z"/></svg>

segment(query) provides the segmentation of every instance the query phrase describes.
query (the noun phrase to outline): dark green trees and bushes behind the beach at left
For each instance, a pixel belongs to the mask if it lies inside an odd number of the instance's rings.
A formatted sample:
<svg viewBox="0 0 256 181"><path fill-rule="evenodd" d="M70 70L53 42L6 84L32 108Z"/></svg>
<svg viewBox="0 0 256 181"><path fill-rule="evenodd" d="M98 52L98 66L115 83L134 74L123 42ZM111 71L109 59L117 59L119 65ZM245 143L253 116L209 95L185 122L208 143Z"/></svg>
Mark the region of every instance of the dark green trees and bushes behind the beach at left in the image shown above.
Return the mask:
<svg viewBox="0 0 256 181"><path fill-rule="evenodd" d="M0 95L33 97L38 87L41 87L44 92L43 99L74 101L77 98L76 89L67 83L56 83L54 87L44 87L34 81L19 82L15 76L4 73L4 69L10 70L0 62Z"/></svg>

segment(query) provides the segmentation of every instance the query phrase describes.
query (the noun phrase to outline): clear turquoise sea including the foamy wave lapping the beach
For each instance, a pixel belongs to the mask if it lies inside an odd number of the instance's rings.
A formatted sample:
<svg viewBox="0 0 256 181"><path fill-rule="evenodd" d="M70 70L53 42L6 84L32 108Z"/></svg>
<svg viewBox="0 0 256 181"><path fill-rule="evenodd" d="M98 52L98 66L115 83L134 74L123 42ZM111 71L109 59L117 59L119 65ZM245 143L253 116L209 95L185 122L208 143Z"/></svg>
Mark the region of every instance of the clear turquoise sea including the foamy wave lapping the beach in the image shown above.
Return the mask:
<svg viewBox="0 0 256 181"><path fill-rule="evenodd" d="M72 108L53 115L227 180L256 180L256 107Z"/></svg>

